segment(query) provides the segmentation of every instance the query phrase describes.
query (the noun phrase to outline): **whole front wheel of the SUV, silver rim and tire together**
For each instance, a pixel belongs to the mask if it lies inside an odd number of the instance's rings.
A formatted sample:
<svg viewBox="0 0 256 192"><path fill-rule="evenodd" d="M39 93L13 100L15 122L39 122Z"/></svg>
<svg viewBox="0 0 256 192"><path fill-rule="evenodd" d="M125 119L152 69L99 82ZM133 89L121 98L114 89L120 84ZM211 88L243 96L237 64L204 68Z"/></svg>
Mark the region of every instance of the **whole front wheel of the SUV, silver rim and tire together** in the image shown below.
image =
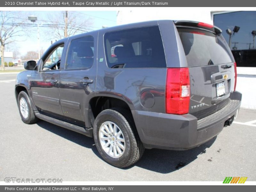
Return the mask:
<svg viewBox="0 0 256 192"><path fill-rule="evenodd" d="M32 105L28 94L25 91L21 91L18 96L18 107L21 120L26 124L33 124L37 122L37 117L34 114Z"/></svg>

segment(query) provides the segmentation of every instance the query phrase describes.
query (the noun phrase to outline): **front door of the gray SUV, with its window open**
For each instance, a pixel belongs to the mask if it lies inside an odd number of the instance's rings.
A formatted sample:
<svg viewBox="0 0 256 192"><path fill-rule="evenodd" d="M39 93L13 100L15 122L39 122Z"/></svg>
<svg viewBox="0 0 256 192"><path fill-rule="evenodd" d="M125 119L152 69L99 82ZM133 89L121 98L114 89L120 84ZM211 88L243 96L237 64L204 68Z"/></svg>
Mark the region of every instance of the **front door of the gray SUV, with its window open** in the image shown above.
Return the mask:
<svg viewBox="0 0 256 192"><path fill-rule="evenodd" d="M53 116L63 116L59 92L63 47L64 43L53 46L43 56L38 71L31 78L32 98L36 108Z"/></svg>

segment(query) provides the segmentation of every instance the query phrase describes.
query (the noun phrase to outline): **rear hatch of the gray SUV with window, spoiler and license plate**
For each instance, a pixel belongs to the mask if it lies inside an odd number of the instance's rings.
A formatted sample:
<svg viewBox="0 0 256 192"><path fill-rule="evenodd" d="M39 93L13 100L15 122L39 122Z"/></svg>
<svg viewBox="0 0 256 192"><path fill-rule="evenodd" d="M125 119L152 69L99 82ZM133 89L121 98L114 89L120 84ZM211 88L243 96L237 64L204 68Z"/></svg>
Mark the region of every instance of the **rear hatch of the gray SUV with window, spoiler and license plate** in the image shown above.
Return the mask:
<svg viewBox="0 0 256 192"><path fill-rule="evenodd" d="M189 68L189 113L201 119L230 102L235 89L234 58L219 28L198 22L175 24Z"/></svg>

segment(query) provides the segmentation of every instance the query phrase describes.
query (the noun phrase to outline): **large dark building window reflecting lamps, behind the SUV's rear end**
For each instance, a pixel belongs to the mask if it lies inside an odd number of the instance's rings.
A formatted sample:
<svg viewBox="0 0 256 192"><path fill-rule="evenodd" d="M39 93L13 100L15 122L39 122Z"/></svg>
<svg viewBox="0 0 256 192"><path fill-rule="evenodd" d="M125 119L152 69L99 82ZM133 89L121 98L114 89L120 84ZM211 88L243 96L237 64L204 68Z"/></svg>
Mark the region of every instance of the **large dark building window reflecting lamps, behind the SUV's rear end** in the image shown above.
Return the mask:
<svg viewBox="0 0 256 192"><path fill-rule="evenodd" d="M229 46L237 67L256 67L256 11L214 14L213 23L222 29L222 35L228 44L230 40Z"/></svg>

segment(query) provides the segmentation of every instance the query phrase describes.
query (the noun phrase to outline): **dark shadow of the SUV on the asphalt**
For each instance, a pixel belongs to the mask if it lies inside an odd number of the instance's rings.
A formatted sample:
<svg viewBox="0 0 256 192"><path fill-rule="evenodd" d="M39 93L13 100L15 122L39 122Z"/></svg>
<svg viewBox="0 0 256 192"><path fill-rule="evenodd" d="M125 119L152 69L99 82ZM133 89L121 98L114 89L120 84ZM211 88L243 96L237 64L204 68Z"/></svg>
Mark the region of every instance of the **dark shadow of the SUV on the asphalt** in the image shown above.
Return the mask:
<svg viewBox="0 0 256 192"><path fill-rule="evenodd" d="M42 120L37 122L37 125L78 145L91 148L95 155L102 159L92 138ZM199 147L185 151L145 149L144 155L136 164L124 169L130 169L134 166L137 166L159 173L170 173L177 171L180 168L193 162L198 155L206 153L206 148L211 147L216 138L217 136L200 145ZM208 161L212 160L208 159Z"/></svg>

